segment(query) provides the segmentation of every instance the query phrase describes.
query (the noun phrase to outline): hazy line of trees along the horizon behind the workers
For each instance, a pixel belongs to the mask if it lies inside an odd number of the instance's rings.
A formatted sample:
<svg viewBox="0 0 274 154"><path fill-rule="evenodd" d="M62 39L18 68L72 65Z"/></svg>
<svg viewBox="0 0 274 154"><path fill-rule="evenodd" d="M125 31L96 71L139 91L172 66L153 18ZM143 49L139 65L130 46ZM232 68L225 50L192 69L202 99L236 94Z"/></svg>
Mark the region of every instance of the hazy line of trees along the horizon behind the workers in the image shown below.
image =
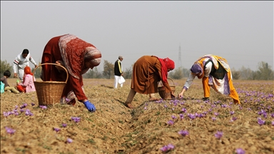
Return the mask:
<svg viewBox="0 0 274 154"><path fill-rule="evenodd" d="M40 64L40 63L39 63ZM133 65L130 68L123 70L124 78L131 78ZM271 66L264 61L258 63L258 70L252 71L250 68L245 68L242 66L238 71L235 68L230 68L233 76L233 80L274 80L274 71L271 69ZM4 71L11 71L11 78L13 78L13 68L10 63L6 60L1 60L1 77L3 76ZM34 68L31 69L34 72ZM188 78L190 73L190 68L179 67L170 71L168 73L169 78L173 79L182 79ZM34 72L35 78L40 78L41 67L36 68ZM114 78L114 64L106 60L103 61L103 71L98 71L98 68L94 67L90 69L87 73L83 74L83 78Z"/></svg>

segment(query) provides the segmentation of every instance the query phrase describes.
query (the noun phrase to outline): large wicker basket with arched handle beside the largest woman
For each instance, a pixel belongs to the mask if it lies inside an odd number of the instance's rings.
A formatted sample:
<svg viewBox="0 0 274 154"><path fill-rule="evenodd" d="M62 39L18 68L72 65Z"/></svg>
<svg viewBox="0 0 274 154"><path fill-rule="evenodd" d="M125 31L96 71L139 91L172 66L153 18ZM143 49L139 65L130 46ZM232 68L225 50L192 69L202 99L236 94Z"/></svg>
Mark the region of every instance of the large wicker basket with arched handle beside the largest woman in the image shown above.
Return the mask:
<svg viewBox="0 0 274 154"><path fill-rule="evenodd" d="M46 64L60 66L56 63L42 63L39 66L46 65ZM36 68L38 68L39 66L37 66ZM61 67L64 68L64 66L61 66ZM34 68L34 72L36 68ZM64 70L66 71L66 68L64 68ZM36 94L39 101L39 105L49 106L49 105L54 105L55 103L60 103L60 99L67 81L68 81L68 71L66 71L65 82L34 81L34 86L36 88Z"/></svg>

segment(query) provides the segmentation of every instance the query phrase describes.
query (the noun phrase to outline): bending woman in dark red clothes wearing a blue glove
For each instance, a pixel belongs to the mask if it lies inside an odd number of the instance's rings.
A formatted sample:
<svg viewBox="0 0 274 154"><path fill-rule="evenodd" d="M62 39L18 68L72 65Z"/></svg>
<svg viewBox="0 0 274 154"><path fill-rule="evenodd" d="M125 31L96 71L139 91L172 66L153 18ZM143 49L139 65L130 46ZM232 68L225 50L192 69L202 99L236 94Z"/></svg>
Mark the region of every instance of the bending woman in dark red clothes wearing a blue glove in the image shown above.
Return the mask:
<svg viewBox="0 0 274 154"><path fill-rule="evenodd" d="M83 91L82 74L89 68L101 63L101 52L91 43L78 37L66 34L49 40L44 48L41 63L57 63L68 71L68 81L64 88L61 103L74 105L75 98L81 101L88 111L96 111L93 103L88 101ZM66 71L54 65L43 65L41 79L43 81L66 81Z"/></svg>

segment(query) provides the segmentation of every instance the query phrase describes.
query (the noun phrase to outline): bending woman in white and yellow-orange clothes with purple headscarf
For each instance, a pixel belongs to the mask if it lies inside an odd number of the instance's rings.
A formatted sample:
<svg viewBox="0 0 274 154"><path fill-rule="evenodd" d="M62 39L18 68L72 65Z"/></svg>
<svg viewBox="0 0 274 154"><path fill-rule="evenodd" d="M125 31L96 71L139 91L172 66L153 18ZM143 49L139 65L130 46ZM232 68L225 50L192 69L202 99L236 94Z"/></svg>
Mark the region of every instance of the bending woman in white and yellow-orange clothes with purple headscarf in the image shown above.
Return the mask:
<svg viewBox="0 0 274 154"><path fill-rule="evenodd" d="M210 87L212 87L217 93L228 95L233 98L235 104L240 104L240 99L237 91L232 83L232 73L230 67L225 58L214 55L205 55L193 64L191 67L191 73L183 86L181 93L178 94L178 98L183 98L188 88L195 77L202 78L203 83L203 101L209 100Z"/></svg>

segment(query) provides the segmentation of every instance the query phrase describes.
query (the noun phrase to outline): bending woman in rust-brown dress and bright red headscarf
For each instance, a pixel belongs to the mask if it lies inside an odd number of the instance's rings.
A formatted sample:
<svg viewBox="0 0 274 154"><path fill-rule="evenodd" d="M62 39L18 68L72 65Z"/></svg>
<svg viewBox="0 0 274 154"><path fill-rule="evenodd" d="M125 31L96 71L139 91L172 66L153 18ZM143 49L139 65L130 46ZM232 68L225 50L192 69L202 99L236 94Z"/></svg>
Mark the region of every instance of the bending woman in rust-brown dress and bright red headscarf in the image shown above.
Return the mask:
<svg viewBox="0 0 274 154"><path fill-rule="evenodd" d="M174 96L168 84L168 71L174 69L174 61L170 58L158 58L156 56L142 56L134 63L131 76L131 91L128 93L125 105L133 108L131 102L136 94L152 94L158 92L158 81L162 81L166 93Z"/></svg>

